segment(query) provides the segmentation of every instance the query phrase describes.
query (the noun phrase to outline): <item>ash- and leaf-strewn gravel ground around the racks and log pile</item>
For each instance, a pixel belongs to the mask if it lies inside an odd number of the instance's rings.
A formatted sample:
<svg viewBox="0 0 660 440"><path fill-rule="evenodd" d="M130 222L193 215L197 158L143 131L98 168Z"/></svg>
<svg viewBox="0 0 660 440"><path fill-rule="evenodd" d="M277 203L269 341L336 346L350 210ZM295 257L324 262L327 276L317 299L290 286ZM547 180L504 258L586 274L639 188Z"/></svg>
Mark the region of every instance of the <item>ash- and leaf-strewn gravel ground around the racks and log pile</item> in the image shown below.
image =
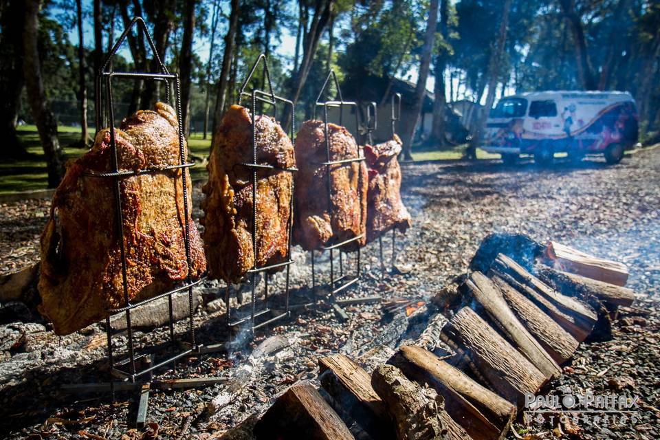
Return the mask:
<svg viewBox="0 0 660 440"><path fill-rule="evenodd" d="M490 232L522 232L538 241L554 239L623 261L631 270L628 286L638 296L635 308L621 311L613 340L582 344L562 378L545 393L638 396L635 423L630 417L617 423L593 417L573 423L555 415L552 421L547 417L525 425L521 418L514 426L516 434L511 432L509 438L552 434L584 439L659 438L660 149L626 157L617 166L607 166L600 159L559 162L551 169L526 162L516 166L498 161L445 162L405 165L403 173L404 203L414 225L405 238L397 236L395 271L381 278L377 243L372 243L362 253L360 287L343 297L428 300L450 278L465 272L481 239ZM200 195L197 185L197 207ZM39 258L39 234L49 206L49 201L2 205L0 272ZM195 213L199 217L199 210ZM391 236L387 236L386 258L390 246ZM322 270L327 269L325 258L318 256ZM347 272L352 258L344 260ZM309 254L296 250L294 259L291 301L300 304L311 283ZM283 276L278 274L271 285L272 292L278 292ZM222 287L208 281L196 289L202 298L195 316L197 338L206 344L228 336L221 301L214 300ZM243 300L248 296L243 295ZM317 360L323 355L338 351L359 355L378 343L396 344L400 335L391 336L395 326L384 303L351 305L345 310L349 320L340 322L325 303L298 307L289 321L272 326L267 333L257 332L252 341L244 331L234 335L236 344L228 353L197 355L180 362L175 373L162 371L162 377L213 376L226 381L188 391L152 391L151 425L144 430L130 426L136 393L118 393L111 401L107 394L70 395L60 389L61 384L107 380L105 332L100 326L58 338L43 323L3 325L7 338L18 336L0 347L0 437L217 438L253 412L267 408L272 397L294 382L316 380ZM179 322L176 329L185 335L186 322ZM283 336L288 347L274 355L251 356L254 347L274 334ZM168 329L137 332L135 340L137 347L165 347ZM125 333L113 341L115 352L125 350ZM219 406L210 410L209 402L218 396Z"/></svg>

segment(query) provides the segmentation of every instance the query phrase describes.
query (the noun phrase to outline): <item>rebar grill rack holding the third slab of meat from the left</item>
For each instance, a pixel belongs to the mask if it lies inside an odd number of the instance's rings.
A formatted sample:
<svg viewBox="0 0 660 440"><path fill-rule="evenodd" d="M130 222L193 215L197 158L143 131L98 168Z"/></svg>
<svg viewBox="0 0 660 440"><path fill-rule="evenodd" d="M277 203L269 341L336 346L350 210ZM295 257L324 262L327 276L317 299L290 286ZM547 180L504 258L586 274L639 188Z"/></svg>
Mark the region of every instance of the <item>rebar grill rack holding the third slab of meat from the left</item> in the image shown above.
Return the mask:
<svg viewBox="0 0 660 440"><path fill-rule="evenodd" d="M336 99L335 100L329 100L329 101L322 101L322 97L327 91L327 88L330 85L330 80L333 81L333 84L336 87ZM332 210L332 203L331 203L331 177L330 177L330 172L331 172L331 166L333 165L339 165L339 166L346 166L350 165L353 162L362 162L364 160L364 155L362 155L362 150L358 148L358 155L357 157L352 157L349 159L340 159L340 160L331 160L330 157L330 137L328 133L328 109L331 108L336 108L339 109L339 124L343 125L344 124L344 109L346 107L352 108L355 111L355 126L359 129L360 127L360 108L358 106L357 102L353 101L346 101L342 97L342 90L339 87L339 81L337 80L337 75L333 70L331 70L325 78L325 83L323 83L323 87L321 87L321 91L318 94L318 97L316 98L316 102L314 105L314 119L316 119L316 110L318 107L323 108L323 130L325 134L325 147L326 147L326 153L327 153L327 161L322 162L320 165L325 165L326 166L326 178L327 178L327 198L328 198L328 210L330 214L330 221L332 223L333 221L333 210ZM356 141L358 142L358 145L360 144L360 139L359 139L359 133L358 137L356 137ZM360 179L358 183L358 190L360 191L360 202L362 203L362 173L358 173L358 178ZM360 215L362 215L362 206L360 207ZM361 219L362 221L362 219ZM350 245L351 243L354 243L356 241L359 241L362 239L364 234L359 234L358 236L354 236L351 239L342 241L340 243L333 243L331 245L326 245L322 246L320 248L321 252L329 251L329 260L330 260L330 296L335 299L336 295L340 292L343 292L344 290L348 289L352 285L355 285L360 281L360 246L358 245L357 250L355 251L355 275L353 276L348 276L347 274L344 274L344 260L342 256L342 248L346 248L347 245ZM334 260L334 250L339 251L339 276L335 278L335 260ZM316 285L316 261L315 261L315 256L314 256L314 250L311 250L311 284L312 284L312 290L314 292L315 300L318 298L318 292L317 292L317 285Z"/></svg>

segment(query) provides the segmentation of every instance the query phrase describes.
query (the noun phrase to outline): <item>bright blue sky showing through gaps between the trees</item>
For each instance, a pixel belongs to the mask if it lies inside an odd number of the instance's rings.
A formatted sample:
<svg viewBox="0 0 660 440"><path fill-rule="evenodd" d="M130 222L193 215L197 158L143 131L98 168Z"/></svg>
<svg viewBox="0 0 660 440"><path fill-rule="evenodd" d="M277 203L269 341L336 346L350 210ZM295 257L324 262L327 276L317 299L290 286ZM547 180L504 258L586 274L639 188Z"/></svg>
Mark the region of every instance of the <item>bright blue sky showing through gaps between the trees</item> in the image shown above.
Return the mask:
<svg viewBox="0 0 660 440"><path fill-rule="evenodd" d="M223 2L221 7L224 8L223 14L225 16L229 15L229 2ZM85 14L87 17L83 18L83 40L85 42L85 47L88 47L89 49L94 47L94 25L93 21L91 19L91 10L93 7L93 1L92 0L84 0L83 1L83 14ZM73 11L64 11L64 10L53 10L53 14L75 14L75 10ZM208 14L207 17L207 22L206 24L208 25L208 28L211 26L211 14ZM219 23L218 30L216 33L216 44L222 45L222 39L223 36L226 32L226 20L222 20ZM116 21L115 21L115 35L114 38L118 39L120 36L120 32L123 32L123 25L121 22L121 17L119 13L117 13ZM69 28L69 41L72 42L72 44L77 44L78 43L78 28L77 26L72 26ZM103 47L107 47L107 33L104 33L104 43ZM202 61L206 61L208 59L208 52L210 50L210 39L204 38L201 39L198 34L195 35L195 39L193 40L193 52L199 56L199 58ZM292 60L294 57L294 54L296 52L296 35L292 34L287 28L284 28L282 30L281 34L281 41L275 41L274 42L274 49L273 49L273 56L281 56L285 59L287 59L287 63L285 63L287 68L292 67ZM127 43L124 43L122 45L122 48L120 48L120 55L124 56L124 58L131 58L131 53L129 52L129 48ZM408 69L406 72L406 77L410 78L413 82L417 82L417 75L418 75L418 70L416 66L413 66L412 68ZM405 78L405 79L408 79ZM404 78L401 78L404 79ZM459 87L459 80L458 78L454 78L454 89ZM426 88L429 91L433 91L435 84L435 78L433 76L429 76L428 79L426 80ZM460 92L460 91L459 91ZM506 89L505 90L506 95L514 94L513 89ZM448 80L445 80L445 95L449 96L450 95L450 84ZM459 98L462 98L459 94ZM485 104L485 94L483 96L483 99L481 101L481 104Z"/></svg>

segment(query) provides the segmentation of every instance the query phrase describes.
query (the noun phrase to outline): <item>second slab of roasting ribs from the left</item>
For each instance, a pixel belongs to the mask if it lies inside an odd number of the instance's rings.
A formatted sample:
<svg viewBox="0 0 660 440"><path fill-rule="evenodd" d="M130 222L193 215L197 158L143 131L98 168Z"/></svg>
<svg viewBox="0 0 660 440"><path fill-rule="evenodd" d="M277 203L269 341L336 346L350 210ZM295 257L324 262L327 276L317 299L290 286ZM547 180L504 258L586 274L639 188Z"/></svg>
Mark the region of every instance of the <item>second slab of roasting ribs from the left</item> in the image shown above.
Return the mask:
<svg viewBox="0 0 660 440"><path fill-rule="evenodd" d="M232 105L215 131L208 162L208 183L202 234L208 273L237 283L256 265L287 259L293 177L285 168L296 165L294 146L269 116L254 121L256 162L276 168L256 168L256 243L252 241L253 205L252 120L248 109ZM254 248L256 246L256 261Z"/></svg>

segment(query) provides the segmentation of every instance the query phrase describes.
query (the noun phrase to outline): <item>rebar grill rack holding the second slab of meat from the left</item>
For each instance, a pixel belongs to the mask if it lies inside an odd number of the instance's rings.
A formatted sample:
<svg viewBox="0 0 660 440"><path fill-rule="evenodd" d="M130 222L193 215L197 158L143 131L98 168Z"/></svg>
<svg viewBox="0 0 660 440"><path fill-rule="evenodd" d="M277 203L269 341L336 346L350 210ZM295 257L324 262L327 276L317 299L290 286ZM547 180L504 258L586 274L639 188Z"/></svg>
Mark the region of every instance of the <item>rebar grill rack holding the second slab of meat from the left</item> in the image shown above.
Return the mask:
<svg viewBox="0 0 660 440"><path fill-rule="evenodd" d="M254 77L254 74L256 72L256 69L259 67L259 65L263 66L263 82L262 84L265 83L267 85L268 90L263 91L261 89L252 89L252 91L245 91L245 89L248 88L250 85L250 80ZM257 267L256 265L256 256L258 255L257 253L257 245L256 245L256 237L259 231L257 231L257 225L256 225L256 212L257 212L257 206L256 206L256 185L257 185L257 171L258 170L272 170L274 172L286 172L286 173L295 173L298 168L291 167L291 168L281 168L278 166L273 166L273 165L268 165L268 164L259 164L256 161L256 119L257 119L257 113L259 113L259 116L263 116L264 113L264 107L270 107L272 111L272 116L275 120L277 120L277 106L278 104L283 104L285 108L290 107L291 108L291 129L290 129L290 139L292 144L295 143L295 132L296 132L296 124L295 124L295 115L296 115L296 109L294 106L294 103L291 100L287 100L286 98L281 98L280 96L276 96L273 93L273 85L270 80L270 71L268 70L268 61L265 56L265 54L259 55L259 58L257 58L256 62L254 65L252 65L252 68L250 69L250 73L248 74L248 77L245 78L243 81L243 85L241 85L241 91L239 93L239 105L242 104L243 102L243 97L250 98L249 105L251 106L250 108L250 115L252 118L251 125L252 125L252 162L250 163L243 163L240 164L241 166L245 166L252 170L252 252L254 255L254 265L252 266L252 269L248 270L248 276L251 276L252 278L252 294L251 294L251 299L250 299L250 315L249 316L238 316L236 317L235 320L232 320L233 318L233 313L230 310L230 295L231 295L231 284L228 283L227 287L225 289L225 307L227 310L227 325L229 327L238 327L240 325L245 324L246 322L250 322L250 331L254 332L254 330L259 329L260 327L264 327L266 325L272 324L272 322L276 322L277 320L281 320L282 318L287 318L290 316L290 311L289 311L289 272L291 268L291 264L293 263L293 260L291 259L291 237L293 233L293 221L294 221L294 181L292 179L291 183L291 204L289 206L289 219L288 219L288 225L287 228L289 230L289 236L287 240L287 257L286 261L283 261L282 263L276 263L272 265L267 265L267 266L261 266ZM258 105L259 105L259 112L258 112ZM256 322L257 318L261 318L262 316L267 316L272 309L268 306L268 272L271 270L275 269L281 269L282 267L285 267L286 271L286 279L285 279L285 310L279 314L276 314L276 316L271 316L270 318L267 318L265 320L261 320L259 323ZM257 310L257 305L256 305L256 283L257 283L257 274L263 273L264 274L264 299L263 299L263 307L261 307L260 310Z"/></svg>

